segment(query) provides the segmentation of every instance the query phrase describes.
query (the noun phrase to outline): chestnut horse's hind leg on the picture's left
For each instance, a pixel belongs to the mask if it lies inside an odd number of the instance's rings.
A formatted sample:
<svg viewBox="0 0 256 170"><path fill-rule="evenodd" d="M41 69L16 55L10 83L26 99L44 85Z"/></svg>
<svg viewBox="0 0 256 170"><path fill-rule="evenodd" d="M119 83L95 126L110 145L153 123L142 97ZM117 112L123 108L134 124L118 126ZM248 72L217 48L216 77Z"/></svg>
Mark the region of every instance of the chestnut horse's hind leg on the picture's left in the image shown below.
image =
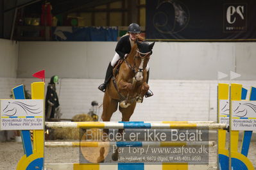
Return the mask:
<svg viewBox="0 0 256 170"><path fill-rule="evenodd" d="M103 98L103 112L101 114L102 121L110 121L113 112L117 110L117 105L118 105L117 100L113 100L112 98L110 98L106 91ZM104 128L103 136L107 136L107 135L104 135L104 133L108 134L108 131L109 131L108 128ZM106 141L106 140L107 138L103 139L103 141ZM104 162L105 160L104 153L105 153L105 148L102 147L99 150L99 157L97 159L97 162Z"/></svg>

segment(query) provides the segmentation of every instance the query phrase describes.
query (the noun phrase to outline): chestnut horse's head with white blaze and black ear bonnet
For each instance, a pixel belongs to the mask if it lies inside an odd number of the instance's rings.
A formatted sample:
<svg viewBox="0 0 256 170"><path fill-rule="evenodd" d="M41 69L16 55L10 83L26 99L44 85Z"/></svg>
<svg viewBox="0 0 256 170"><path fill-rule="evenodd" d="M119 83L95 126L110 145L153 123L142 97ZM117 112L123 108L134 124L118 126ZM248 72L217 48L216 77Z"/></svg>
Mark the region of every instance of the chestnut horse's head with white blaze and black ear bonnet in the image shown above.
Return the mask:
<svg viewBox="0 0 256 170"><path fill-rule="evenodd" d="M135 79L136 81L142 81L143 72L148 65L150 55L152 54L152 49L155 42L149 44L148 42L138 42L136 54L134 56L134 66L135 66Z"/></svg>

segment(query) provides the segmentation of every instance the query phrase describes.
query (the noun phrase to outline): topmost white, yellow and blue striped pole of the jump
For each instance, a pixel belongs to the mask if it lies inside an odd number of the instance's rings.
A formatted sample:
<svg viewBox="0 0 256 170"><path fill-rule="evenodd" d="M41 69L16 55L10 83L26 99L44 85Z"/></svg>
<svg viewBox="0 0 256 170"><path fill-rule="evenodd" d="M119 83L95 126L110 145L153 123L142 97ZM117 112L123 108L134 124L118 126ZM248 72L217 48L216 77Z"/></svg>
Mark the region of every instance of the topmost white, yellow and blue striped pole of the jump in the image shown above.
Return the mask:
<svg viewBox="0 0 256 170"><path fill-rule="evenodd" d="M140 121L106 122L106 121L83 121L83 122L46 122L48 128L194 128L217 130L226 129L225 123L144 123Z"/></svg>

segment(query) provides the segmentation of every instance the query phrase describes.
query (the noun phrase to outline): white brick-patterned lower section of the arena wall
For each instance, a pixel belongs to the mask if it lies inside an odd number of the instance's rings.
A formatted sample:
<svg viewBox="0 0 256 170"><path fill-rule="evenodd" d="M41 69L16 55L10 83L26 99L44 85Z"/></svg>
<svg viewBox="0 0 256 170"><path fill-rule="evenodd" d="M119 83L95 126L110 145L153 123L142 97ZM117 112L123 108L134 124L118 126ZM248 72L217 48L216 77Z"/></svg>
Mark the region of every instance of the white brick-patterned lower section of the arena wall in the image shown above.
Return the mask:
<svg viewBox="0 0 256 170"><path fill-rule="evenodd" d="M19 84L30 90L31 82L37 79L17 79ZM60 79L57 93L62 109L62 118L72 118L75 114L87 113L92 100L103 102L103 94L98 84L103 79ZM49 79L46 79L46 86ZM229 82L229 81L221 81ZM256 81L230 81L241 83L244 88ZM218 81L169 81L149 80L154 96L144 98L137 104L131 121L216 121ZM98 114L101 115L102 107ZM112 121L120 121L121 113L115 112Z"/></svg>

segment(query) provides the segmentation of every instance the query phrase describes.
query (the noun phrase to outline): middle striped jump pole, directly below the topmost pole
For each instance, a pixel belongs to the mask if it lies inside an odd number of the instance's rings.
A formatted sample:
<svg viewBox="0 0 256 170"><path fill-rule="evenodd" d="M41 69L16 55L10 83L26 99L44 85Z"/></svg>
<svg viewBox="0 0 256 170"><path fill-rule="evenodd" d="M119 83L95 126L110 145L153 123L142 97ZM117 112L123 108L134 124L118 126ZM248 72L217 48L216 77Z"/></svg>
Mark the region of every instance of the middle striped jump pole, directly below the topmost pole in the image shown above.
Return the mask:
<svg viewBox="0 0 256 170"><path fill-rule="evenodd" d="M173 141L126 141L126 142L46 142L46 148L76 148L76 147L171 147L171 146L216 146L215 141L202 142L173 142Z"/></svg>

